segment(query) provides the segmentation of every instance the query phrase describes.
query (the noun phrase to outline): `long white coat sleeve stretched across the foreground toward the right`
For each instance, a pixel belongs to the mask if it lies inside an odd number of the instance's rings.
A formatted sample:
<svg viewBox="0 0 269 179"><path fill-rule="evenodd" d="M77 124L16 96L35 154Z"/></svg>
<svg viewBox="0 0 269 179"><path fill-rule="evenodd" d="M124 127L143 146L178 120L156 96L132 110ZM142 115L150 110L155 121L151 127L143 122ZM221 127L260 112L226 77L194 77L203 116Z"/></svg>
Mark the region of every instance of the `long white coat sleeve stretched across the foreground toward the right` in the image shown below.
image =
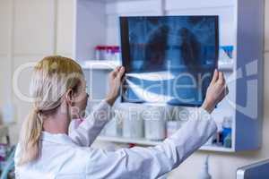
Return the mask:
<svg viewBox="0 0 269 179"><path fill-rule="evenodd" d="M152 148L91 151L87 178L158 178L179 166L217 131L215 122L202 108L181 129Z"/></svg>

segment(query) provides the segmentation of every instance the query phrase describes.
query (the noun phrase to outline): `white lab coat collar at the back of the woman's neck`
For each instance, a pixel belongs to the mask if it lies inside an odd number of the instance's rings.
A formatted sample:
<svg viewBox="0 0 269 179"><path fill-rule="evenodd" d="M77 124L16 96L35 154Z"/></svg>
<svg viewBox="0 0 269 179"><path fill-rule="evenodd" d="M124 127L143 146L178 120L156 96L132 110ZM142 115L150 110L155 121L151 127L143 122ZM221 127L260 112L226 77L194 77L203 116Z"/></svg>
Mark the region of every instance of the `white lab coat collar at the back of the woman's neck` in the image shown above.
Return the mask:
<svg viewBox="0 0 269 179"><path fill-rule="evenodd" d="M71 138L65 133L42 132L41 141L49 141L57 144L74 145Z"/></svg>

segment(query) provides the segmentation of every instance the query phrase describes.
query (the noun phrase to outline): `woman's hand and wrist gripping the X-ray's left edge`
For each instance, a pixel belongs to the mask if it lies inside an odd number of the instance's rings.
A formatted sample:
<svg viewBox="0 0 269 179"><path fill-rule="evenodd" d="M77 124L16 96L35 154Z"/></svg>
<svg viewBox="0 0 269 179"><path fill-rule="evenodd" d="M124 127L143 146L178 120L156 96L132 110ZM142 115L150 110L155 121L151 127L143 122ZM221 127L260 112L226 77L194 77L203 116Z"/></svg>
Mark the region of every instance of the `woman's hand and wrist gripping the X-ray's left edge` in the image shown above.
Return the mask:
<svg viewBox="0 0 269 179"><path fill-rule="evenodd" d="M122 83L122 76L125 73L125 67L123 66L117 66L117 68L109 73L109 92L108 96L105 99L110 106L113 106L114 102L116 101L119 89Z"/></svg>

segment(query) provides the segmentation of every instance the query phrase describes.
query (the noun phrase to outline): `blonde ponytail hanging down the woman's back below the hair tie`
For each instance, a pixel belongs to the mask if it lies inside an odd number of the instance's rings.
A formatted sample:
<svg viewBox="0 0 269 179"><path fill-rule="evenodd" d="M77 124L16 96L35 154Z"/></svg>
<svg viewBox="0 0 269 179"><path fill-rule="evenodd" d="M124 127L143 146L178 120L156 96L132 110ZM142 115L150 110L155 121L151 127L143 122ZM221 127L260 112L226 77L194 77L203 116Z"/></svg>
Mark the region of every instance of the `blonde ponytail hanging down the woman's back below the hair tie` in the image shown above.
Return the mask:
<svg viewBox="0 0 269 179"><path fill-rule="evenodd" d="M32 109L22 124L19 165L39 158L39 138L41 136L42 127L43 121L39 110Z"/></svg>

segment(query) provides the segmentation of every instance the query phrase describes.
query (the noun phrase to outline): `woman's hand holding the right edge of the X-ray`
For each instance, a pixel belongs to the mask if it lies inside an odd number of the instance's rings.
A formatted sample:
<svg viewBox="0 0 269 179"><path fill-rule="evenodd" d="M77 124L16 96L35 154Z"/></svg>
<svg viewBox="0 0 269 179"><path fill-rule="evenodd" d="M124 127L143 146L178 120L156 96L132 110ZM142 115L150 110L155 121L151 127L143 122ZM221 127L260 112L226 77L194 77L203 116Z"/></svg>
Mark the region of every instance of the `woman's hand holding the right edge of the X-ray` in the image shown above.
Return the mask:
<svg viewBox="0 0 269 179"><path fill-rule="evenodd" d="M212 113L216 105L229 93L226 86L223 72L215 70L213 80L206 90L206 97L202 107L208 112Z"/></svg>

